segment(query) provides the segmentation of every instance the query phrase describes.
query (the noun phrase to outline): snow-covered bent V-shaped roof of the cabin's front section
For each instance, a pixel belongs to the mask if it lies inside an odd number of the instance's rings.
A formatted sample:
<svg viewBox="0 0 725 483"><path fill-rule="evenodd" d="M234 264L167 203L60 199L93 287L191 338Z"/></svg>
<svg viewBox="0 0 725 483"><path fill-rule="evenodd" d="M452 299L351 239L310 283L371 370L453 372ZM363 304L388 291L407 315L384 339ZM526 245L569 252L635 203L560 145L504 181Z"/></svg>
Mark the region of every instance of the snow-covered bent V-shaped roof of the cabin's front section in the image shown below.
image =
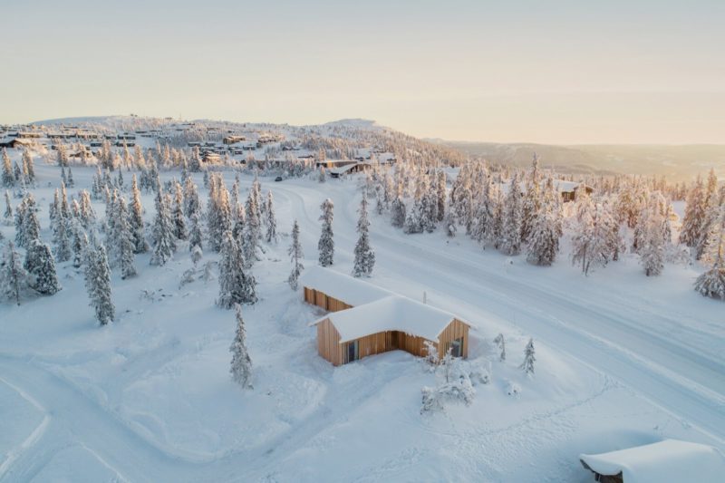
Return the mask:
<svg viewBox="0 0 725 483"><path fill-rule="evenodd" d="M370 304L327 314L311 325L330 319L340 333L340 343L387 331L410 333L437 341L440 333L455 318L454 314L408 297L390 295Z"/></svg>

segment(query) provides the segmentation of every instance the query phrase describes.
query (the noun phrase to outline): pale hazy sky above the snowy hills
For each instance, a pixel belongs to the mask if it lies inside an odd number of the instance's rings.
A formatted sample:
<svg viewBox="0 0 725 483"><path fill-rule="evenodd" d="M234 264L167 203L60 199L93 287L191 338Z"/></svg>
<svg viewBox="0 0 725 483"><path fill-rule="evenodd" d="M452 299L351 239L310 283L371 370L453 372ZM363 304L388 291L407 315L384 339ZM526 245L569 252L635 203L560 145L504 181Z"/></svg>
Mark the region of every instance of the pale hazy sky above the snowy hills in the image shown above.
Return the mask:
<svg viewBox="0 0 725 483"><path fill-rule="evenodd" d="M136 113L725 143L725 0L0 4L0 123Z"/></svg>

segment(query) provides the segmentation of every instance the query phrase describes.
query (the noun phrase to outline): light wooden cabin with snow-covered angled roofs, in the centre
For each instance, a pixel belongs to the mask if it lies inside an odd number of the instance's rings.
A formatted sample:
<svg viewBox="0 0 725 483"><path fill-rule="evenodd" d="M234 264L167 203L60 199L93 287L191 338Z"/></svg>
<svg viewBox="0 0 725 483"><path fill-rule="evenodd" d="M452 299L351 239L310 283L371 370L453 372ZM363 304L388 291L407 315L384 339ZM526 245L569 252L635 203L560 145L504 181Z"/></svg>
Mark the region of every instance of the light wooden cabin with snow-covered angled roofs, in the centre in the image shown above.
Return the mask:
<svg viewBox="0 0 725 483"><path fill-rule="evenodd" d="M449 348L468 357L470 324L454 314L319 266L305 272L302 285L307 303L330 311L310 325L318 353L333 365L395 350L422 357L426 342L439 357Z"/></svg>

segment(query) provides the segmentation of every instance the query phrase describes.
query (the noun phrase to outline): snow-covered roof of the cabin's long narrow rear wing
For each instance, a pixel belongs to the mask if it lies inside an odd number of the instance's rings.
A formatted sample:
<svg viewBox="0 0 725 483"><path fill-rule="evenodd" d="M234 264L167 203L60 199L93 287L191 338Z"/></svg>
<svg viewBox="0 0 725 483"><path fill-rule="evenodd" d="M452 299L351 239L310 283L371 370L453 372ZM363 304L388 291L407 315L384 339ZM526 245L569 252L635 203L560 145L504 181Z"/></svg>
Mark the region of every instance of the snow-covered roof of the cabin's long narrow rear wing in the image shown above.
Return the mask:
<svg viewBox="0 0 725 483"><path fill-rule="evenodd" d="M304 270L300 278L302 286L314 288L348 305L369 304L384 297L394 295L376 285L359 278L344 275L329 268L311 266Z"/></svg>

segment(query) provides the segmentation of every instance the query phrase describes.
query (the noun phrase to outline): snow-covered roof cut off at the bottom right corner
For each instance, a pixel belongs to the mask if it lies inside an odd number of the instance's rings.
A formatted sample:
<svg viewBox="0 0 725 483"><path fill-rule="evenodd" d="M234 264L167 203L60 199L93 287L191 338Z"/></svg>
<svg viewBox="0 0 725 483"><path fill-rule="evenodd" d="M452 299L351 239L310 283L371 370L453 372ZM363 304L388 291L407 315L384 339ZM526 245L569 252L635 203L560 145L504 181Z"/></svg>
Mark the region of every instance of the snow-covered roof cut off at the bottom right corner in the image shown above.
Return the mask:
<svg viewBox="0 0 725 483"><path fill-rule="evenodd" d="M579 459L600 475L622 473L625 483L715 483L725 475L725 457L718 449L680 440L663 440L600 455L581 455Z"/></svg>

